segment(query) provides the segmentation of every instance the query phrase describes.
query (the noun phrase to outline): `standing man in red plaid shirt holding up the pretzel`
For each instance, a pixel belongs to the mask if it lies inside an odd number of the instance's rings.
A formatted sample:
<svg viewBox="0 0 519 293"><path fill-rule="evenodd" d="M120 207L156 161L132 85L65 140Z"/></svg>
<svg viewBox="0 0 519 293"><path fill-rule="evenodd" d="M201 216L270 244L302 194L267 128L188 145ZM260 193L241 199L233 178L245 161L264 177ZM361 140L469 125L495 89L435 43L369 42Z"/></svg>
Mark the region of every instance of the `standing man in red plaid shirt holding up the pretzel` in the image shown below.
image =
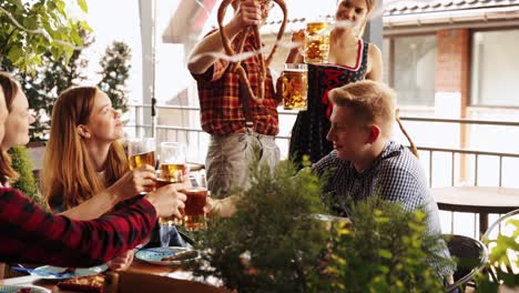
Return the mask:
<svg viewBox="0 0 519 293"><path fill-rule="evenodd" d="M233 6L236 12L225 26L225 32L234 51L237 51L238 32L250 26L263 24L269 2L243 0L233 2ZM255 44L252 32L244 38L244 51L261 49ZM211 134L205 165L207 186L216 196L226 195L232 184L247 188L247 169L256 149L261 162L271 168L279 160L279 149L274 141L278 132L278 101L269 70L266 69L264 100L256 102L245 97L248 94L238 74L231 71L230 61L212 54L223 51L221 32L215 30L195 46L187 64L197 82L202 129ZM256 54L242 61L256 97L260 92L261 58ZM252 125L246 124L250 120Z"/></svg>

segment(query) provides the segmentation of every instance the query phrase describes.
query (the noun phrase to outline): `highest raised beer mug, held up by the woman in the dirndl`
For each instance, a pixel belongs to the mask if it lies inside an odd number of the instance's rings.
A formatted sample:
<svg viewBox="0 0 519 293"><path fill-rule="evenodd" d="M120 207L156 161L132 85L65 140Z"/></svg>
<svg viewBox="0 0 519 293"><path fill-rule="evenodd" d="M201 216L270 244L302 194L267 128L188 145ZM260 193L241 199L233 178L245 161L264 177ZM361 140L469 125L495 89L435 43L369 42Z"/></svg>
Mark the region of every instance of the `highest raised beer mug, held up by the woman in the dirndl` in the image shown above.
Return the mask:
<svg viewBox="0 0 519 293"><path fill-rule="evenodd" d="M305 29L305 63L326 63L329 53L330 23L308 22Z"/></svg>

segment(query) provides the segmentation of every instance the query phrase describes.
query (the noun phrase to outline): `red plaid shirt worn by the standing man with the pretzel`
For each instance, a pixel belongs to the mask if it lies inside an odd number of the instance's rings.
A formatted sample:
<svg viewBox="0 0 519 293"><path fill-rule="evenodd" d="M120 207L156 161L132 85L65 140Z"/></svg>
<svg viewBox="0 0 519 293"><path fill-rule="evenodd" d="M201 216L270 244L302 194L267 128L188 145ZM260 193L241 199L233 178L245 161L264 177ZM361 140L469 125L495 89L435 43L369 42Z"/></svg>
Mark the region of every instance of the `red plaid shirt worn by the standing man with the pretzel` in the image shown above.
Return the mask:
<svg viewBox="0 0 519 293"><path fill-rule="evenodd" d="M236 38L233 43L235 51L238 42L240 40ZM245 41L244 50L257 50L254 48L252 33ZM260 62L258 55L242 61L242 67L247 72L256 97L260 90ZM215 135L246 131L245 115L240 98L240 77L231 72L228 65L228 61L218 60L205 73L193 74L199 88L202 129ZM265 99L261 104L251 100L251 113L254 119L253 130L260 134L276 135L279 131L277 101L269 70L267 70L266 75Z"/></svg>

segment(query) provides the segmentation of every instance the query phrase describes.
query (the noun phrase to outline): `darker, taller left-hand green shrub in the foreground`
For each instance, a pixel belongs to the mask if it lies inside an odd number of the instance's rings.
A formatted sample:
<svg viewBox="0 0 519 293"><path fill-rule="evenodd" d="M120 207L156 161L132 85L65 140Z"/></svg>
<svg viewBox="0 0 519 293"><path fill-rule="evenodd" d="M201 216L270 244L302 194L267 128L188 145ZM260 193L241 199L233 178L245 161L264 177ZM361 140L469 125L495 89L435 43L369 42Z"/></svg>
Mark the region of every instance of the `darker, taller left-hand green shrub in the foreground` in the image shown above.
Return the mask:
<svg viewBox="0 0 519 293"><path fill-rule="evenodd" d="M305 292L326 231L305 219L323 212L320 182L309 171L296 173L282 162L274 173L254 164L252 186L237 201L228 219L213 219L196 235L208 266L192 266L197 276L215 276L238 292Z"/></svg>

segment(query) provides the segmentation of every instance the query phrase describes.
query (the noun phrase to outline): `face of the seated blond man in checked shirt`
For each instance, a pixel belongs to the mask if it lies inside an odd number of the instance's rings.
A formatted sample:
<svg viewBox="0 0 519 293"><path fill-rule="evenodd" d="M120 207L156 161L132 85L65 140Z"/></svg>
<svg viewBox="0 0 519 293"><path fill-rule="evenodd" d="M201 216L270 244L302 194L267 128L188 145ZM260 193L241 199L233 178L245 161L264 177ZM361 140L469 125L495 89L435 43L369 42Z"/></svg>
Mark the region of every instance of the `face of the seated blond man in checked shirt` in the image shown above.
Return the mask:
<svg viewBox="0 0 519 293"><path fill-rule="evenodd" d="M369 125L359 120L349 107L334 105L329 121L326 139L334 144L337 156L348 161L358 160L369 145Z"/></svg>

